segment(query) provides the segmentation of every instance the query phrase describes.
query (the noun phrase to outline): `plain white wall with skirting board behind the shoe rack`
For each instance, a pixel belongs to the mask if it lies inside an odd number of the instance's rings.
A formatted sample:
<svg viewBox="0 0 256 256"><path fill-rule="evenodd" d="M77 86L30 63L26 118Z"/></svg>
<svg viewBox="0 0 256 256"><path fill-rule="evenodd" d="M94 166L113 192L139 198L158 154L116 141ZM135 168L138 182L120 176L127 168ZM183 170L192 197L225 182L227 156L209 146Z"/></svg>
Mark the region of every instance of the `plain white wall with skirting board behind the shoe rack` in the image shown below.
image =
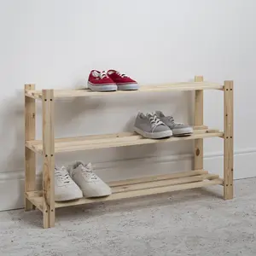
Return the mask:
<svg viewBox="0 0 256 256"><path fill-rule="evenodd" d="M254 0L0 0L0 210L22 207L23 84L86 84L90 69L116 68L140 84L235 80L235 177L255 176ZM222 92L206 92L206 125L223 127ZM192 122L192 92L69 99L56 103L57 137L129 131L137 111L162 109ZM41 137L38 107L38 137ZM61 154L92 161L105 179L191 168L192 142ZM222 173L222 141L205 144ZM40 162L38 163L40 166ZM38 169L40 169L38 167ZM38 177L39 178L39 177Z"/></svg>

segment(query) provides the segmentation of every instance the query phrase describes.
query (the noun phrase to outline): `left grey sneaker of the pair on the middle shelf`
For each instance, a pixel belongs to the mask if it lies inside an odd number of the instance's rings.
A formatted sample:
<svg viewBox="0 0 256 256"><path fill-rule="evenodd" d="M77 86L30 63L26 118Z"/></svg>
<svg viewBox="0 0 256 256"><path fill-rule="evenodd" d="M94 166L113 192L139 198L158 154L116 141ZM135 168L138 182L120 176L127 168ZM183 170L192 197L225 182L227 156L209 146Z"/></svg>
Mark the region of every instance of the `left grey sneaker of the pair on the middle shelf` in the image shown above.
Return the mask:
<svg viewBox="0 0 256 256"><path fill-rule="evenodd" d="M134 124L134 131L143 137L163 138L171 137L172 131L154 113L138 113Z"/></svg>

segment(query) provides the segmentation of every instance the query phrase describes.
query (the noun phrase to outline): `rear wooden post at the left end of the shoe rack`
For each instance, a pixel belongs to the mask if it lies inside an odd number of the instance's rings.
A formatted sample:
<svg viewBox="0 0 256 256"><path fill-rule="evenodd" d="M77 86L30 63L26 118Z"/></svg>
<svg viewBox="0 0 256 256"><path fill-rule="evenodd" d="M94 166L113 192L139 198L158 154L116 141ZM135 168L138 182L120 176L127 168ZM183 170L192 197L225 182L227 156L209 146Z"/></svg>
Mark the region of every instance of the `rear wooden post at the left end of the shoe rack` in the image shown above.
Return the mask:
<svg viewBox="0 0 256 256"><path fill-rule="evenodd" d="M35 90L35 84L25 84L26 90ZM25 141L34 140L36 133L36 102L25 96ZM36 154L25 147L25 194L36 188ZM25 211L32 211L35 207L26 199Z"/></svg>

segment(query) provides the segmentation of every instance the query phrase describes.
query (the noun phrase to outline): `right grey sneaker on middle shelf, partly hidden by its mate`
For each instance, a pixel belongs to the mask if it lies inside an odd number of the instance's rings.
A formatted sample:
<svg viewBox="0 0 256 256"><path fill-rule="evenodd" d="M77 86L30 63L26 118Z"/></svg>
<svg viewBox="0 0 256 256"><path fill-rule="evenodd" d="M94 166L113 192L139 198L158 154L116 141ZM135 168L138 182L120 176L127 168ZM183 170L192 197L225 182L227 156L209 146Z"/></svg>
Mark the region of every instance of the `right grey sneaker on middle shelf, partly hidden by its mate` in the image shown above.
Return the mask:
<svg viewBox="0 0 256 256"><path fill-rule="evenodd" d="M176 123L172 116L165 116L161 111L155 111L155 114L172 130L173 136L187 136L193 133L193 127L183 123Z"/></svg>

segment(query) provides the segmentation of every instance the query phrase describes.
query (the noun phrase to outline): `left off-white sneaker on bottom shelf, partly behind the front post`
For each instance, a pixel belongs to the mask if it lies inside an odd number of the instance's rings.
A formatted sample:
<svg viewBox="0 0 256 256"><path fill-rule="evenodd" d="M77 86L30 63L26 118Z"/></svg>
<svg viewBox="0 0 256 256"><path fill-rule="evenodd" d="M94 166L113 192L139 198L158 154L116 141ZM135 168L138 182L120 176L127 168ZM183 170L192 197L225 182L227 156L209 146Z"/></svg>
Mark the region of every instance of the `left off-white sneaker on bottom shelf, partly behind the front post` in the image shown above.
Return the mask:
<svg viewBox="0 0 256 256"><path fill-rule="evenodd" d="M83 197L79 186L73 182L67 169L55 167L55 201L69 201Z"/></svg>

